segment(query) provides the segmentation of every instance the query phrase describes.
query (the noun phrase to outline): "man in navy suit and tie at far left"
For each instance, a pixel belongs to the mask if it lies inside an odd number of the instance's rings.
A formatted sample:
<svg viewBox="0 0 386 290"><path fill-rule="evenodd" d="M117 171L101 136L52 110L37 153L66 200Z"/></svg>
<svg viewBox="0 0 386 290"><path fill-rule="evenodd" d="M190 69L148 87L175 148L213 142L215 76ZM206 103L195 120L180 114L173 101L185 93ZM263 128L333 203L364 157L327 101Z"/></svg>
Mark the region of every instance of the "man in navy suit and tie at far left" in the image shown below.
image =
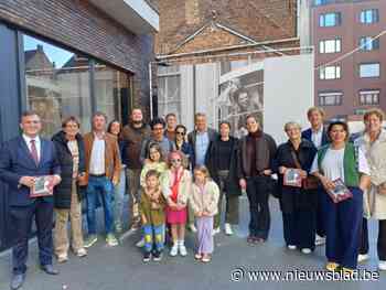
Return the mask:
<svg viewBox="0 0 386 290"><path fill-rule="evenodd" d="M0 150L0 179L9 185L10 229L13 238L11 289L19 289L25 279L33 216L41 268L50 275L58 273L52 266L53 197L31 197L30 191L37 176L50 175L52 186L58 184L60 164L54 144L39 137L42 122L36 112L23 112L20 128L22 136L9 140Z"/></svg>

